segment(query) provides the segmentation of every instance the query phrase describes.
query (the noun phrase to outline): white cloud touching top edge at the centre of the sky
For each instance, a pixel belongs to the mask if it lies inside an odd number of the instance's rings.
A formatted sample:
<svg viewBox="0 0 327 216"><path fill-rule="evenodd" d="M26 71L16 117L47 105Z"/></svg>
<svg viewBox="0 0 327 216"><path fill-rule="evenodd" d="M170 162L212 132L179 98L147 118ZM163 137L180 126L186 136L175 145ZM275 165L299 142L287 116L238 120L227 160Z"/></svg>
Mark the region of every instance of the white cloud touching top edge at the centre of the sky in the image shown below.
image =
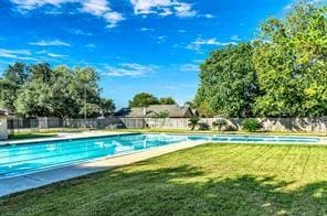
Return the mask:
<svg viewBox="0 0 327 216"><path fill-rule="evenodd" d="M192 4L178 0L130 0L135 14L159 14L161 17L177 15L189 18L197 15Z"/></svg>

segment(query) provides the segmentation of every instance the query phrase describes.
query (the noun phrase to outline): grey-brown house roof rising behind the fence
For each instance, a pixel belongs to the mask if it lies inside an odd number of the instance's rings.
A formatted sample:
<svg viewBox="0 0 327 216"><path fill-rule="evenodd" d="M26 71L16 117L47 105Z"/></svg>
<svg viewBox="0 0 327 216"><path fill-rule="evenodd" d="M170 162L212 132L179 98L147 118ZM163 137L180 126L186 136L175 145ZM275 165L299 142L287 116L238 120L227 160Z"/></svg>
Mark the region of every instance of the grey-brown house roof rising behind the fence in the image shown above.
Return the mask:
<svg viewBox="0 0 327 216"><path fill-rule="evenodd" d="M151 105L149 107L123 108L115 116L127 118L156 117L160 112L168 112L170 118L188 118L192 116L189 107L178 105Z"/></svg>

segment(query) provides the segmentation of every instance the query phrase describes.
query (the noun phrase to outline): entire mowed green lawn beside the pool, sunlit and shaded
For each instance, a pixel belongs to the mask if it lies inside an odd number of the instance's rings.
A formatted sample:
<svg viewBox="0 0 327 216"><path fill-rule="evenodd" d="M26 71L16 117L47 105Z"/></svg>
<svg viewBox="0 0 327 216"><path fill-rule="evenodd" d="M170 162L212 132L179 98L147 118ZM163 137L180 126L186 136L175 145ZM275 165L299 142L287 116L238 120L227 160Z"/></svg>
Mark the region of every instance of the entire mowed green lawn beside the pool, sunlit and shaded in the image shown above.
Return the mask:
<svg viewBox="0 0 327 216"><path fill-rule="evenodd" d="M327 215L327 148L205 144L2 198L0 215Z"/></svg>

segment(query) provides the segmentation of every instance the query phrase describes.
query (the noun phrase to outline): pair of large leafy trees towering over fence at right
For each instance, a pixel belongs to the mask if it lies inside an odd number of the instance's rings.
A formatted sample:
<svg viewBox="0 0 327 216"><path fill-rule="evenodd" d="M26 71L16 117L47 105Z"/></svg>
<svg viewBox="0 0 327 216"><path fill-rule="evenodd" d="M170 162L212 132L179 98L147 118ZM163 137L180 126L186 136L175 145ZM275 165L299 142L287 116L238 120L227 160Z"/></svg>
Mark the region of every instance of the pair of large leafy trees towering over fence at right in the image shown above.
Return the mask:
<svg viewBox="0 0 327 216"><path fill-rule="evenodd" d="M201 65L196 106L207 116L327 116L327 7L299 2L268 19L251 43Z"/></svg>

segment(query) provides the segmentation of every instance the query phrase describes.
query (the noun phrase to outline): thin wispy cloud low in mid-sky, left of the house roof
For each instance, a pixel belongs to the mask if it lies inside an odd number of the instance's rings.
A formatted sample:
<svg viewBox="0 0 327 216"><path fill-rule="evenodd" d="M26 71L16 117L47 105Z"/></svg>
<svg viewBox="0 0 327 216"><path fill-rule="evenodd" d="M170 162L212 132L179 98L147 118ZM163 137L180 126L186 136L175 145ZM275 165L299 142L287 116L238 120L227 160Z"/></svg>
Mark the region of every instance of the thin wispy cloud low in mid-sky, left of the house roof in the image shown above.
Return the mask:
<svg viewBox="0 0 327 216"><path fill-rule="evenodd" d="M158 66L155 65L141 65L137 63L125 63L120 64L117 67L114 66L105 66L103 69L103 75L112 76L112 77L140 77L146 76L155 72Z"/></svg>

